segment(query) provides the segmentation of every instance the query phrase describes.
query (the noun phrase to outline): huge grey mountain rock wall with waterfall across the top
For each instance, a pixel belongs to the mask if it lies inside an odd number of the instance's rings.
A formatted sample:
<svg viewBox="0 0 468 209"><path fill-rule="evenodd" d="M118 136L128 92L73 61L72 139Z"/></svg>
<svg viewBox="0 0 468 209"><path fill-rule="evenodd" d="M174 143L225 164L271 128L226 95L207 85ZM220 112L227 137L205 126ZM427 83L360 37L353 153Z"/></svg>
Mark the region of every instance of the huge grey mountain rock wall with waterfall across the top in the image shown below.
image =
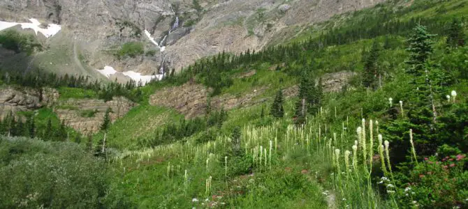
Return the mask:
<svg viewBox="0 0 468 209"><path fill-rule="evenodd" d="M154 53L145 30L157 42L168 34L161 42L165 63L179 70L218 52L261 49L314 22L382 1L17 0L0 1L0 20L28 22L34 17L62 25L56 36L42 38L47 49L28 59L28 66L99 77L96 69L110 65L150 75L161 66L161 52ZM144 43L145 52L151 53L117 59L116 50L131 41Z"/></svg>

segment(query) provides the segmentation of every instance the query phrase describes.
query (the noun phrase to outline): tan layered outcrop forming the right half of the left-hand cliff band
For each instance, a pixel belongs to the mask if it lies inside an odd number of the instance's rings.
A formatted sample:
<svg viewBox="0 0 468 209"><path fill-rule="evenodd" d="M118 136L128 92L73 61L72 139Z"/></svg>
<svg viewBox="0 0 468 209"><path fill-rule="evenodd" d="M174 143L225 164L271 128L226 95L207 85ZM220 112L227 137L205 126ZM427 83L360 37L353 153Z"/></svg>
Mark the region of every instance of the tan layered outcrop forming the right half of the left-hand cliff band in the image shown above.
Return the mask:
<svg viewBox="0 0 468 209"><path fill-rule="evenodd" d="M108 102L103 100L70 99L61 102L54 111L66 125L83 134L89 134L98 132L103 123L105 111L108 108L112 110L110 119L113 122L124 116L135 105L135 103L123 97L115 97Z"/></svg>

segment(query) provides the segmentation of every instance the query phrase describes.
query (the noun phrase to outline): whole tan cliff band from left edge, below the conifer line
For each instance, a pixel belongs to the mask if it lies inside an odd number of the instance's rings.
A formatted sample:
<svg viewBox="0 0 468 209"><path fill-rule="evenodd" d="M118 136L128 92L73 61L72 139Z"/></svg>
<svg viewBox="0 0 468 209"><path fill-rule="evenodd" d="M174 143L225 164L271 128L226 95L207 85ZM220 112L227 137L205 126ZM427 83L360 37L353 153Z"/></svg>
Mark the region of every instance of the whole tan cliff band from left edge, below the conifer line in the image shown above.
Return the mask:
<svg viewBox="0 0 468 209"><path fill-rule="evenodd" d="M103 123L105 111L110 108L111 121L124 116L135 103L122 97L108 102L103 100L59 100L59 92L54 88L37 89L12 87L0 88L0 119L19 111L34 111L41 107L51 107L61 121L83 134L94 133Z"/></svg>

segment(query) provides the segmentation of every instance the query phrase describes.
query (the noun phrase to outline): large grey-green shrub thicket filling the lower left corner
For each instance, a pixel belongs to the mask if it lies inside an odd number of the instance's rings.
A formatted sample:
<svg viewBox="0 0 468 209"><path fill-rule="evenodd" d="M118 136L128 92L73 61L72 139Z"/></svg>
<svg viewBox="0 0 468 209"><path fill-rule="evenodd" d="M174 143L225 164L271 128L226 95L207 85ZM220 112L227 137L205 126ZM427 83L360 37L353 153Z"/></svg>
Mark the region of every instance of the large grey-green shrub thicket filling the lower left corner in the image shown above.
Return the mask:
<svg viewBox="0 0 468 209"><path fill-rule="evenodd" d="M1 138L0 208L105 207L103 160L78 144Z"/></svg>

